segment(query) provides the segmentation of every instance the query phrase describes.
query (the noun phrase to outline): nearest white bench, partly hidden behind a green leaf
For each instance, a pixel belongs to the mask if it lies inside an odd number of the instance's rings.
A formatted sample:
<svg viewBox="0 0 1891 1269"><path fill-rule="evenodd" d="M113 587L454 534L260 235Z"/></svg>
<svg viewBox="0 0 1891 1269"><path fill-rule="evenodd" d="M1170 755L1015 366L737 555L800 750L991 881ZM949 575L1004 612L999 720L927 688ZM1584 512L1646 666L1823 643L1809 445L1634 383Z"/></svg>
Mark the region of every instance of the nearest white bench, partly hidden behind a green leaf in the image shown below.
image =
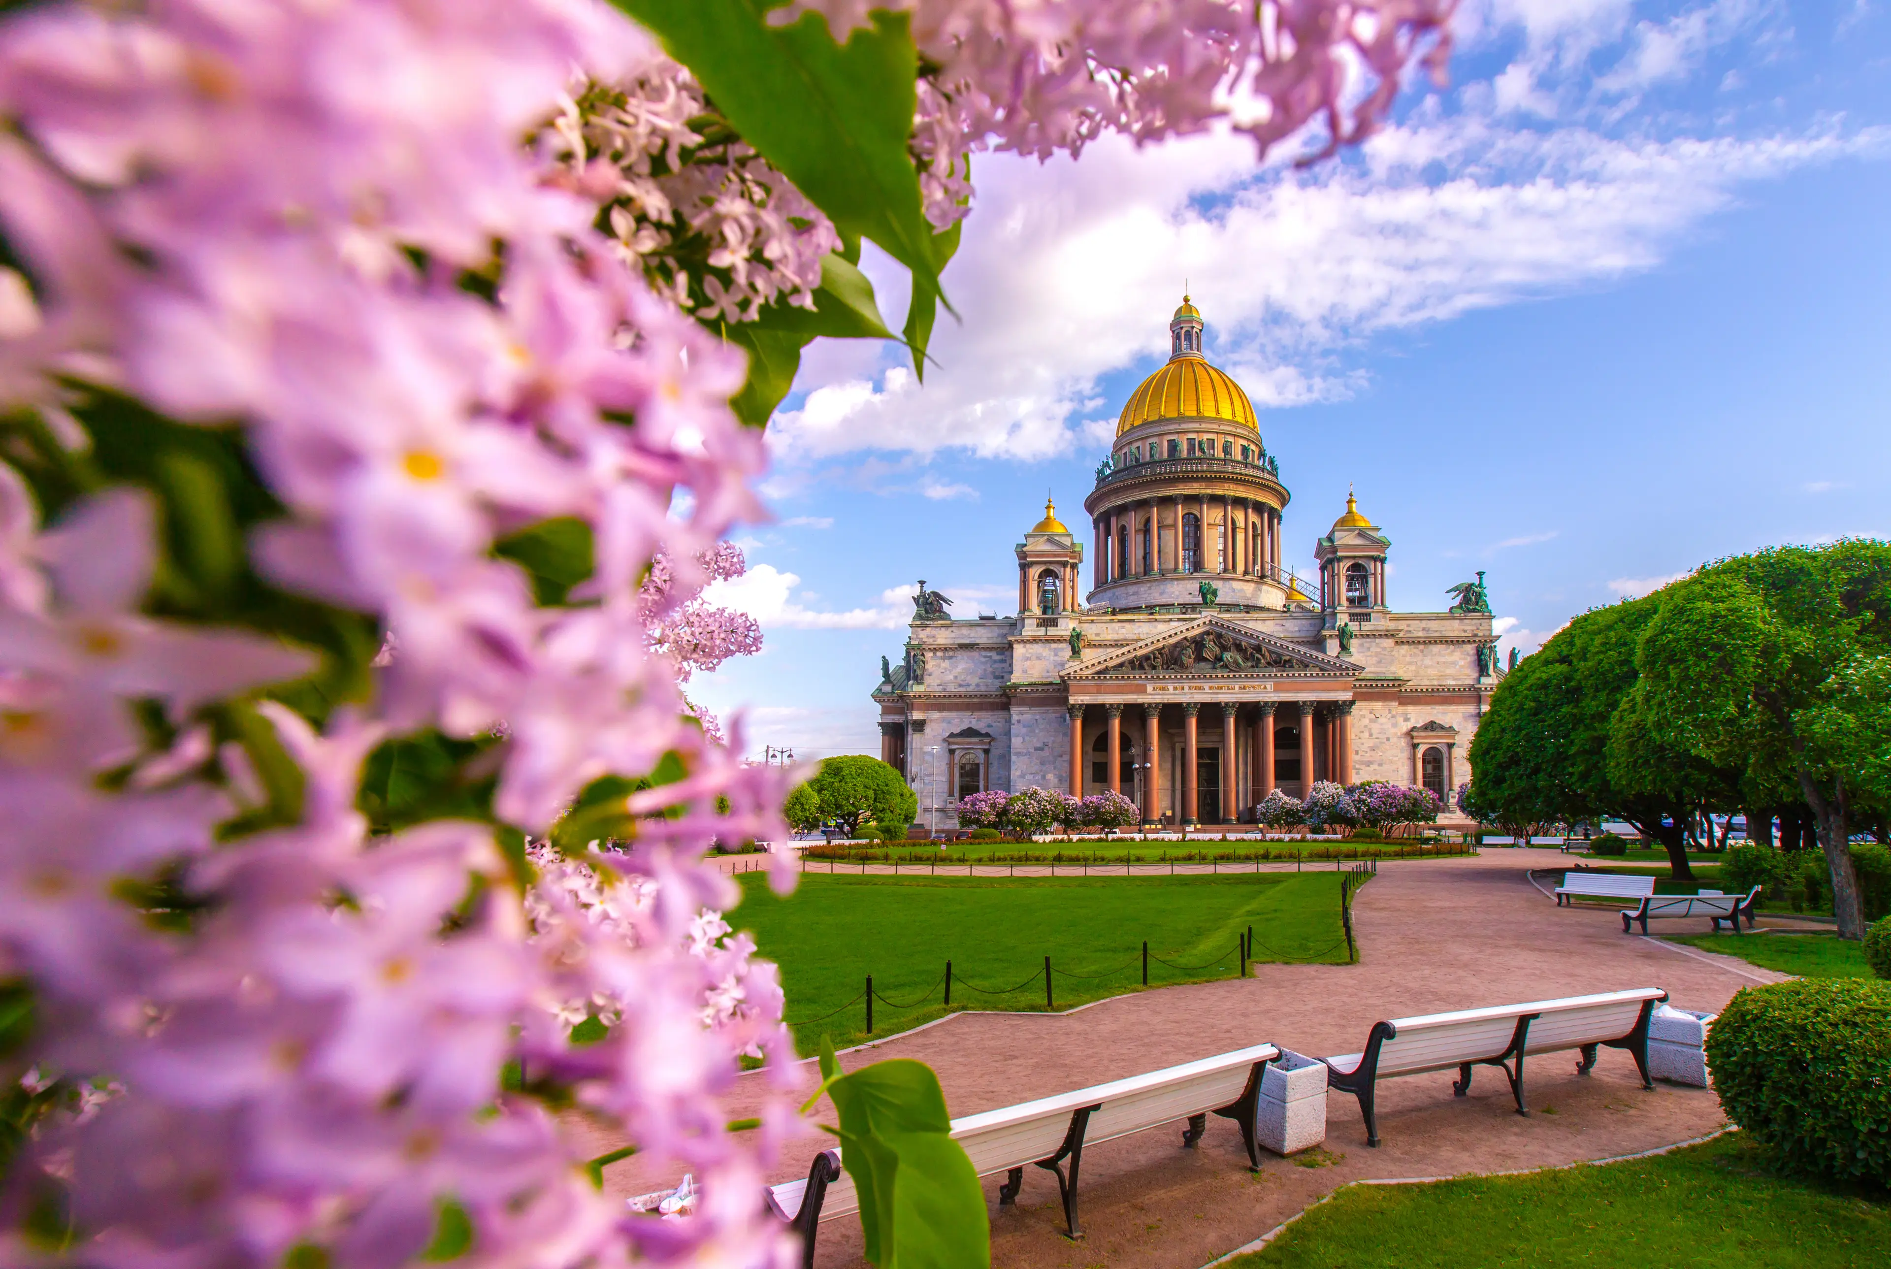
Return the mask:
<svg viewBox="0 0 1891 1269"><path fill-rule="evenodd" d="M1280 1050L1273 1044L1256 1044L1074 1093L985 1110L953 1120L951 1139L964 1148L972 1171L980 1176L1006 1173L1004 1184L998 1186L1000 1205L1017 1197L1027 1163L1055 1173L1065 1226L1072 1239L1080 1239L1084 1231L1076 1214L1076 1178L1085 1144L1188 1120L1182 1144L1193 1148L1208 1129L1208 1116L1218 1114L1240 1125L1248 1163L1259 1169L1254 1120L1261 1074L1276 1057ZM1070 1161L1068 1174L1065 1159ZM813 1265L819 1222L859 1212L860 1197L855 1193L853 1178L841 1171L840 1150L823 1150L815 1156L807 1180L768 1188L768 1207L802 1235L802 1265L807 1267Z"/></svg>

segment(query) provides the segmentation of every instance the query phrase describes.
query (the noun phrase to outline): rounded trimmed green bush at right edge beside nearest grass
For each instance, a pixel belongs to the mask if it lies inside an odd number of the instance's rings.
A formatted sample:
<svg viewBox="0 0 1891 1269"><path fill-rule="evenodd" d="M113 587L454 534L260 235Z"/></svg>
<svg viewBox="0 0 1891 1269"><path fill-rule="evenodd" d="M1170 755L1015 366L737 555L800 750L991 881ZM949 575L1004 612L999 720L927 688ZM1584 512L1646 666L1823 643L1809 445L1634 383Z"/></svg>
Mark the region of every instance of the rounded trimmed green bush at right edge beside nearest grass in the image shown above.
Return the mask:
<svg viewBox="0 0 1891 1269"><path fill-rule="evenodd" d="M1796 1171L1891 1184L1891 983L1744 987L1708 1031L1726 1114Z"/></svg>

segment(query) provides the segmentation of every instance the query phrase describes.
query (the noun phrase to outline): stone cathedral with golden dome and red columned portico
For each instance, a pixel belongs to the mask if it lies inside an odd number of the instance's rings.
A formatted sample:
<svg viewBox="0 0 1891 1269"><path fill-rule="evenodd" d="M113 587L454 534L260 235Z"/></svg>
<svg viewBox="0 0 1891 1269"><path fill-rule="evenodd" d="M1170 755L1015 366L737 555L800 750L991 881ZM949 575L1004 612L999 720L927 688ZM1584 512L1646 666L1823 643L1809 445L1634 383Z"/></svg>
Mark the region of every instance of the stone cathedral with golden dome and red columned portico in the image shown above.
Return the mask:
<svg viewBox="0 0 1891 1269"><path fill-rule="evenodd" d="M1017 545L1017 615L955 618L919 584L874 690L881 756L936 826L1025 787L1225 825L1322 779L1422 785L1458 819L1501 675L1483 575L1450 611L1394 613L1392 539L1350 495L1314 545L1318 581L1284 569L1288 490L1254 407L1203 357L1188 297L1169 331L1084 501L1089 533L1046 503Z"/></svg>

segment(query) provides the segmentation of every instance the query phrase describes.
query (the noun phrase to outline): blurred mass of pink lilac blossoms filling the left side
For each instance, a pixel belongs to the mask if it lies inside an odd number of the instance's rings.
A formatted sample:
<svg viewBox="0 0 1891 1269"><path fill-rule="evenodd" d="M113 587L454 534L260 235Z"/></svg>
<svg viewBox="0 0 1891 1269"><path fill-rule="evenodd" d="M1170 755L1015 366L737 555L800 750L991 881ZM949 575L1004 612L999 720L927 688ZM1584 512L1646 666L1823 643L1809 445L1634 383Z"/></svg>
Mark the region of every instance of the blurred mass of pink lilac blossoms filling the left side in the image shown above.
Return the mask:
<svg viewBox="0 0 1891 1269"><path fill-rule="evenodd" d="M15 1159L15 1212L66 1184L68 1258L397 1265L442 1205L482 1263L789 1254L755 1193L794 1116L772 1103L745 1139L719 1106L739 1053L792 1057L779 989L700 862L781 834L781 774L713 745L677 687L741 643L690 603L756 514L760 437L726 407L743 365L520 146L573 68L649 57L588 0L0 25L21 263L0 270L0 410L74 471L102 391L238 427L282 509L242 565L363 615L390 652L320 726L250 704L314 658L147 613L180 530L151 494L100 480L42 530L0 465L0 955L36 1017L9 1061L125 1087ZM495 550L548 522L581 526L592 564L558 601ZM505 828L369 836L363 762L424 732L490 745ZM673 779L618 800L632 851L539 853L522 895L509 838L666 755ZM257 819L284 785L293 817ZM615 1023L603 1040L571 1044L579 1008ZM558 1106L694 1173L696 1216L615 1210Z"/></svg>

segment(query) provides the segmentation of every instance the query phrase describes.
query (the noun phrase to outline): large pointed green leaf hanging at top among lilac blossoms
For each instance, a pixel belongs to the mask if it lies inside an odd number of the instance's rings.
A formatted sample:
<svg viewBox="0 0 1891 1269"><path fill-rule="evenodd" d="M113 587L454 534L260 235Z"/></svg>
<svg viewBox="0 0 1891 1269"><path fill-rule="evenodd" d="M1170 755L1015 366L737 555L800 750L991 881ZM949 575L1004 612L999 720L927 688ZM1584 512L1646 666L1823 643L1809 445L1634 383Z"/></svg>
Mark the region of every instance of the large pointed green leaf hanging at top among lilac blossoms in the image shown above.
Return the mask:
<svg viewBox="0 0 1891 1269"><path fill-rule="evenodd" d="M616 0L649 26L745 142L826 212L938 289L932 227L908 153L919 53L904 13L836 43L815 13L770 26L785 0Z"/></svg>

